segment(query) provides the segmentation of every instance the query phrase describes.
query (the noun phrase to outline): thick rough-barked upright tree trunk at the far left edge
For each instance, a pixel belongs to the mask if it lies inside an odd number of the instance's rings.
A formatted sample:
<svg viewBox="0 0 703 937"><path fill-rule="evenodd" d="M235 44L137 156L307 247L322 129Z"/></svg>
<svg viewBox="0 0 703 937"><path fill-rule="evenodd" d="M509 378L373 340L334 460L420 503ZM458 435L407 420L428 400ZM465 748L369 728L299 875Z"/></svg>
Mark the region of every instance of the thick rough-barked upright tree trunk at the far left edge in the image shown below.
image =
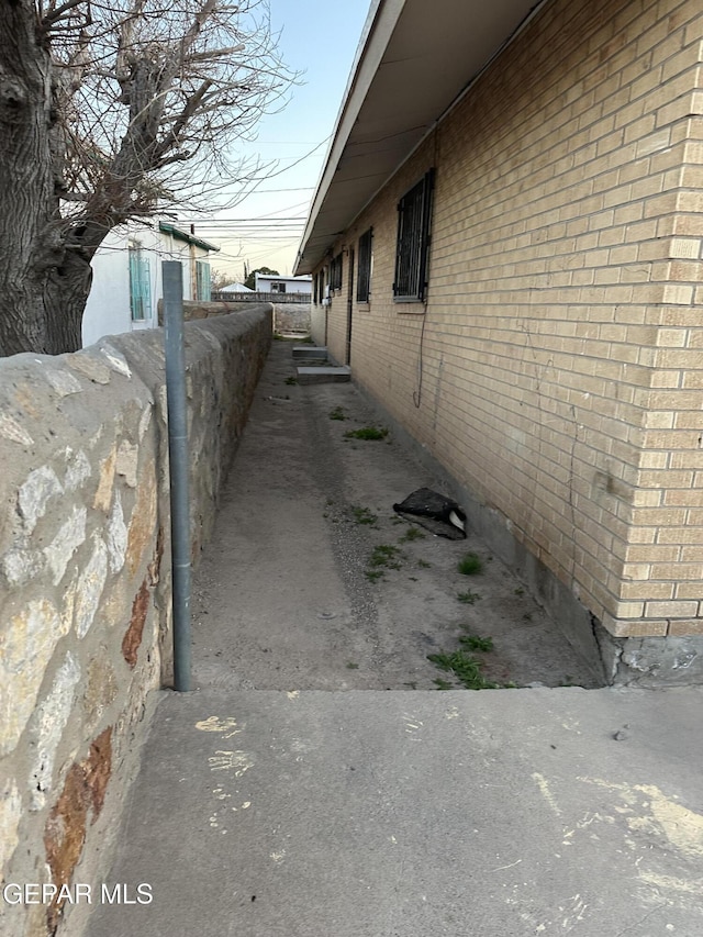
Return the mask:
<svg viewBox="0 0 703 937"><path fill-rule="evenodd" d="M66 243L82 232L59 213L53 96L33 0L0 0L0 356L81 346L94 248Z"/></svg>

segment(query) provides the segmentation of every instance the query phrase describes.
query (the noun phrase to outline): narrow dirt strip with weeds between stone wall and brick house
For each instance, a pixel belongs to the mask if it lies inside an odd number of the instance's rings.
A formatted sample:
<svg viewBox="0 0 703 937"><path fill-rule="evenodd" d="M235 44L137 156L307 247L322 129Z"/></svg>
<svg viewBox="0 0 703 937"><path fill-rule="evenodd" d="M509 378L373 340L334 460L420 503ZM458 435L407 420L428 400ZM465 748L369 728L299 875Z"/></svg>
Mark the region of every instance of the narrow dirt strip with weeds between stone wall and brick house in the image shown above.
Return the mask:
<svg viewBox="0 0 703 937"><path fill-rule="evenodd" d="M292 344L274 343L194 575L196 685L456 689L456 672L428 655L462 651L455 662L478 661L479 682L595 687L471 531L449 540L393 512L417 488L440 490L437 480L392 434L349 438L383 428L378 414L354 384L294 383ZM480 572L458 572L467 554ZM470 648L471 637L492 649Z"/></svg>

